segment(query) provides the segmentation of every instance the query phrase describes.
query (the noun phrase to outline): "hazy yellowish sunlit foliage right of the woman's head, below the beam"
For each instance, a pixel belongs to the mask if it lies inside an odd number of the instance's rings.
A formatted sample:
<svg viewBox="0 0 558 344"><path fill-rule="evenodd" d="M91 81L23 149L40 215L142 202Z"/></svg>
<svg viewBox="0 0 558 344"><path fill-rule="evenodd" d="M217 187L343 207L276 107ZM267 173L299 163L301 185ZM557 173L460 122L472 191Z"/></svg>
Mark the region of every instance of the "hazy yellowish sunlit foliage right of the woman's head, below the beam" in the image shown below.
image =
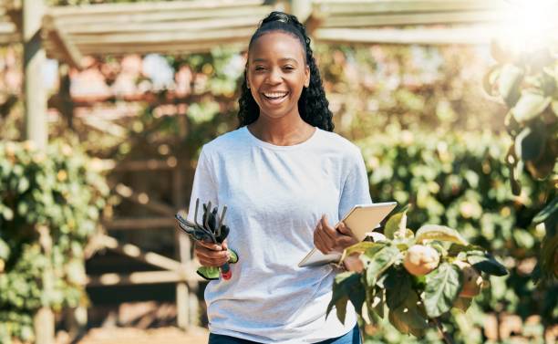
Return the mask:
<svg viewBox="0 0 558 344"><path fill-rule="evenodd" d="M488 62L473 47L316 45L336 131L366 138L397 121L408 130L500 130L483 97Z"/></svg>

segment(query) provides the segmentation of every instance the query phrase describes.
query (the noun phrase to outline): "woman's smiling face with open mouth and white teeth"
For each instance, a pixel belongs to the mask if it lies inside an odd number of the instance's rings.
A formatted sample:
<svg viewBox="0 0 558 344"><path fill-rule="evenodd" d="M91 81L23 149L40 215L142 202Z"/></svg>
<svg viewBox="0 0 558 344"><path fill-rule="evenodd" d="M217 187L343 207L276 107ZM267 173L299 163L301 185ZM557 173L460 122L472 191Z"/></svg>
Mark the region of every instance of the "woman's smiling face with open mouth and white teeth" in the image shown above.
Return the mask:
<svg viewBox="0 0 558 344"><path fill-rule="evenodd" d="M300 116L298 99L310 83L305 50L294 36L273 31L258 37L248 54L247 83L260 116Z"/></svg>

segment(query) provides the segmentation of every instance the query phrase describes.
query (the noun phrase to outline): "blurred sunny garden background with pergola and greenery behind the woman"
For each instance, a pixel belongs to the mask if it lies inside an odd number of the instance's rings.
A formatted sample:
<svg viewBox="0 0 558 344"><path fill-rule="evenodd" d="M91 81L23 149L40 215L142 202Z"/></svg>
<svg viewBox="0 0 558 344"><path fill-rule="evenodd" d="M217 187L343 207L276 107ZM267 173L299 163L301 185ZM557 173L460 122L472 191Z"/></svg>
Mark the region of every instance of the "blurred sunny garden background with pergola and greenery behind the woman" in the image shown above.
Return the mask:
<svg viewBox="0 0 558 344"><path fill-rule="evenodd" d="M202 144L237 127L245 49L273 10L305 22L373 200L509 269L443 319L455 342L555 342L556 1L0 4L0 343L207 341L173 215Z"/></svg>

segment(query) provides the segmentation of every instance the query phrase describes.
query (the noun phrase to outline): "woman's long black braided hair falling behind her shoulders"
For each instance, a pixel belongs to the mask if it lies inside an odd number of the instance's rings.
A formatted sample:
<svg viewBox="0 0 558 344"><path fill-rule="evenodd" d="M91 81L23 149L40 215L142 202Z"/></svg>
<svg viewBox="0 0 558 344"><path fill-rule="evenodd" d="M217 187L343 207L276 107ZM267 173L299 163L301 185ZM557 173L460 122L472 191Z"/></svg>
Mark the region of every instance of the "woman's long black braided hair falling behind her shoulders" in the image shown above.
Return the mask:
<svg viewBox="0 0 558 344"><path fill-rule="evenodd" d="M253 42L263 34L271 31L282 31L297 38L305 49L305 62L310 68L310 85L303 89L298 99L298 112L306 123L322 130L333 131L333 114L329 110L329 102L325 98L320 71L315 65L315 59L310 47L310 38L306 35L305 26L296 19L296 16L274 11L266 16L250 39L248 51ZM246 66L248 64L246 63ZM252 97L246 84L246 69L244 69L241 97L238 99L239 128L253 123L260 116L260 108Z"/></svg>

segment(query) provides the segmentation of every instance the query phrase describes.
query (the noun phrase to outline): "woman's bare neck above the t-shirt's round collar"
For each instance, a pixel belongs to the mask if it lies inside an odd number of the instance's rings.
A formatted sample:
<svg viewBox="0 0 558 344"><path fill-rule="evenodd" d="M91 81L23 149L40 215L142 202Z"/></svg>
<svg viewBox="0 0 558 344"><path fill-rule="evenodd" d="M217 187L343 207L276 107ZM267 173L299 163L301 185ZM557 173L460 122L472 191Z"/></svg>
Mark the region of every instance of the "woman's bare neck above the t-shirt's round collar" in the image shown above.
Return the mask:
<svg viewBox="0 0 558 344"><path fill-rule="evenodd" d="M314 134L314 127L306 123L300 116L295 119L270 120L260 116L248 130L261 141L276 146L292 146L308 140Z"/></svg>

